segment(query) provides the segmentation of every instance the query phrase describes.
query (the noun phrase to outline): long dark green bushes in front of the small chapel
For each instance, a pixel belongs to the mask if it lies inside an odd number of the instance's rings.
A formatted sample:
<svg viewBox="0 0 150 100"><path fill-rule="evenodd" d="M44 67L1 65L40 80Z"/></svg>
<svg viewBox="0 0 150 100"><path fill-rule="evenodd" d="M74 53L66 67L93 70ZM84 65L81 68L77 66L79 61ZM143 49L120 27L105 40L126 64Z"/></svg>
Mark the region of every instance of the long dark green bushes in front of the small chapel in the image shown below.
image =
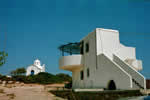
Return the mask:
<svg viewBox="0 0 150 100"><path fill-rule="evenodd" d="M12 76L12 80L24 83L52 84L52 83L63 83L66 81L70 82L72 79L67 74L61 73L53 75L50 73L41 72L37 75L30 75L30 76L15 75Z"/></svg>

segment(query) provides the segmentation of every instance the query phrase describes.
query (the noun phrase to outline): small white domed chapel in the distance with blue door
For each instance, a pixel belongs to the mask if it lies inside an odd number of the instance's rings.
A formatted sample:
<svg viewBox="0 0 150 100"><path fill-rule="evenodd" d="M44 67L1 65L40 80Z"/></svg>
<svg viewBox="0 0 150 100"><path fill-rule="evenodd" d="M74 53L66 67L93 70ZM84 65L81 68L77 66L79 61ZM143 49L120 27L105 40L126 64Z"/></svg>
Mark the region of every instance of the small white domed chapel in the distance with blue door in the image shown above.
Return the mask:
<svg viewBox="0 0 150 100"><path fill-rule="evenodd" d="M28 75L36 75L40 72L45 72L45 64L41 66L40 60L36 59L34 64L30 65L26 69L26 76Z"/></svg>

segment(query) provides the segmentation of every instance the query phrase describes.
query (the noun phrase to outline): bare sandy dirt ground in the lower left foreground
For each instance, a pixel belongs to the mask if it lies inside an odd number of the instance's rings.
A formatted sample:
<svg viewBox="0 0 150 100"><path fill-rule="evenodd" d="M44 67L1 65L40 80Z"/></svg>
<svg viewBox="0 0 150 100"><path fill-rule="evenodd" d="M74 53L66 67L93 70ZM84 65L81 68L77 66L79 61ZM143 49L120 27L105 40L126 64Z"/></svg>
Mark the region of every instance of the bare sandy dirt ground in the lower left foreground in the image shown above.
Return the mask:
<svg viewBox="0 0 150 100"><path fill-rule="evenodd" d="M56 84L56 86L59 86L59 84ZM64 99L54 96L53 94L48 92L48 90L43 85L24 84L24 85L0 86L0 100L64 100Z"/></svg>

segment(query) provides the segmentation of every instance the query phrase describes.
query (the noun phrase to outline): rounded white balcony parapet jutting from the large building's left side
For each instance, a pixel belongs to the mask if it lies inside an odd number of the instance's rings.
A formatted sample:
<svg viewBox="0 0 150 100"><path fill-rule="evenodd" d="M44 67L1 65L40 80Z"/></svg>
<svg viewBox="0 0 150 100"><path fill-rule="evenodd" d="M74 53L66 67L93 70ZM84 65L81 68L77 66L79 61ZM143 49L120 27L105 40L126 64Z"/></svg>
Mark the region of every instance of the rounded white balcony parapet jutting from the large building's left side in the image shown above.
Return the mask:
<svg viewBox="0 0 150 100"><path fill-rule="evenodd" d="M69 71L81 70L82 65L82 55L70 55L62 56L59 59L59 68Z"/></svg>

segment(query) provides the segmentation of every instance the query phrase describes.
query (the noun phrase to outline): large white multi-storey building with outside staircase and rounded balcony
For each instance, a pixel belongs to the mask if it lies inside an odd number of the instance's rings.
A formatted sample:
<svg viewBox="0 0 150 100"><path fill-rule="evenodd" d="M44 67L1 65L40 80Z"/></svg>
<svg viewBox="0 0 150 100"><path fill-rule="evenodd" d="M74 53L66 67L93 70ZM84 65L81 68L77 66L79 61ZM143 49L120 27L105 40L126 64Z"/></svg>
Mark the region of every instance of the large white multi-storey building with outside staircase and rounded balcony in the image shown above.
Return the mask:
<svg viewBox="0 0 150 100"><path fill-rule="evenodd" d="M96 28L79 43L59 47L59 68L72 72L73 89L145 89L142 61L120 43L117 30ZM64 52L71 55L64 56Z"/></svg>

